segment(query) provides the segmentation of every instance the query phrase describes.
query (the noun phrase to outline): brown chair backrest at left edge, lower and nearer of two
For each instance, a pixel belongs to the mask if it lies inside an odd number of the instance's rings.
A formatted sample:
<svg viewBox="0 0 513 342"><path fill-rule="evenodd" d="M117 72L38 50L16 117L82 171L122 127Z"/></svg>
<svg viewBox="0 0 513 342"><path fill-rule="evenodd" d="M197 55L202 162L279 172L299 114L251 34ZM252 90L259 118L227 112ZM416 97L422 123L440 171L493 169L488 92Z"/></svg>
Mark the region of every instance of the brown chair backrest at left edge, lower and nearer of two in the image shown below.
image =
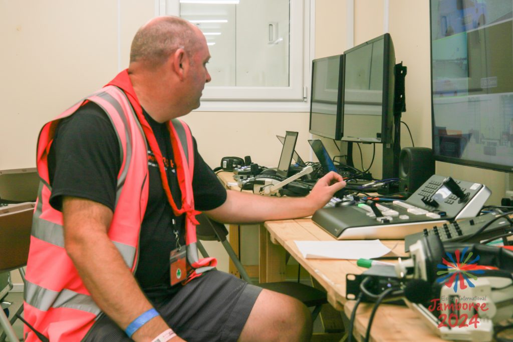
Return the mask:
<svg viewBox="0 0 513 342"><path fill-rule="evenodd" d="M0 207L0 272L27 264L35 203Z"/></svg>

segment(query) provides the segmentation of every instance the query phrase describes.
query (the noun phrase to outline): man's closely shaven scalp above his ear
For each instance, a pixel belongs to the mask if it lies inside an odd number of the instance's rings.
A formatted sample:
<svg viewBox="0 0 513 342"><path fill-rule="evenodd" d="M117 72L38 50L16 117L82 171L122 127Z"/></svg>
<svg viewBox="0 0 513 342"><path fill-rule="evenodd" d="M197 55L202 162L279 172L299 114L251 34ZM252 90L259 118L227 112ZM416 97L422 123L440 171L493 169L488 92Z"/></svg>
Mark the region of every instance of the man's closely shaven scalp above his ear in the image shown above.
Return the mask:
<svg viewBox="0 0 513 342"><path fill-rule="evenodd" d="M180 47L193 54L200 47L199 32L198 28L179 17L154 18L135 33L130 64L143 62L148 66L161 66Z"/></svg>

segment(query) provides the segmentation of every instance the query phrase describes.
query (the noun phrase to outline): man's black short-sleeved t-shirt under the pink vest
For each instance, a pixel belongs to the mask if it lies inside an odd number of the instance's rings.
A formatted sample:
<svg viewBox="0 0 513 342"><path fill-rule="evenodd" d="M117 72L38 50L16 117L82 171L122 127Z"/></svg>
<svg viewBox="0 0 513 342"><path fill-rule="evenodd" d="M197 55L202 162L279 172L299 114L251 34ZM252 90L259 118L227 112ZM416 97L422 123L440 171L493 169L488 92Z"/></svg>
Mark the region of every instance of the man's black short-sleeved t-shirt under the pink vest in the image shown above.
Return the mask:
<svg viewBox="0 0 513 342"><path fill-rule="evenodd" d="M164 165L177 207L181 192L169 132L165 124L155 122L144 112L164 157ZM192 188L197 210L211 210L226 200L226 190L198 153L194 142L194 177ZM107 114L88 103L64 119L50 148L48 167L52 195L50 204L62 208L62 196L94 200L114 211L116 178L121 168L120 146ZM140 254L135 278L149 297L176 292L169 280L169 254L176 247L174 230L185 245L183 215L175 217L168 203L155 157L148 150L149 198L140 234ZM172 221L175 220L173 225Z"/></svg>

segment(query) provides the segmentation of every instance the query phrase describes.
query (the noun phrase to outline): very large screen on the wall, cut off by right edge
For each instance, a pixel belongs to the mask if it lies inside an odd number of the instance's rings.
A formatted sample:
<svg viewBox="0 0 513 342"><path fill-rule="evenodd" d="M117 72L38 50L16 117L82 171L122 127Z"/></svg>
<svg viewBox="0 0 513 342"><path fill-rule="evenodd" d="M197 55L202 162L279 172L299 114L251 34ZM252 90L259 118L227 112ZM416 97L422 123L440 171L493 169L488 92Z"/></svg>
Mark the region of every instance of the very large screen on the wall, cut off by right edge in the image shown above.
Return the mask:
<svg viewBox="0 0 513 342"><path fill-rule="evenodd" d="M431 0L436 160L513 172L513 4Z"/></svg>

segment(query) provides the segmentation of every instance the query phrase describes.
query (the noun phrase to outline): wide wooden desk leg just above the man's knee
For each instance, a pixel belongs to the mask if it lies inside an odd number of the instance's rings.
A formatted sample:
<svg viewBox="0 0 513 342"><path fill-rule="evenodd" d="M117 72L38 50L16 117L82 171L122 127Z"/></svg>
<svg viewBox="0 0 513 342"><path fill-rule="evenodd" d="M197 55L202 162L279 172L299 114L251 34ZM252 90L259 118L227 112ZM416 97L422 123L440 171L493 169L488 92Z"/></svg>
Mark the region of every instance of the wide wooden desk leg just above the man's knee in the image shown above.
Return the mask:
<svg viewBox="0 0 513 342"><path fill-rule="evenodd" d="M260 283L285 280L285 249L271 242L271 236L264 225L260 225L259 231Z"/></svg>

